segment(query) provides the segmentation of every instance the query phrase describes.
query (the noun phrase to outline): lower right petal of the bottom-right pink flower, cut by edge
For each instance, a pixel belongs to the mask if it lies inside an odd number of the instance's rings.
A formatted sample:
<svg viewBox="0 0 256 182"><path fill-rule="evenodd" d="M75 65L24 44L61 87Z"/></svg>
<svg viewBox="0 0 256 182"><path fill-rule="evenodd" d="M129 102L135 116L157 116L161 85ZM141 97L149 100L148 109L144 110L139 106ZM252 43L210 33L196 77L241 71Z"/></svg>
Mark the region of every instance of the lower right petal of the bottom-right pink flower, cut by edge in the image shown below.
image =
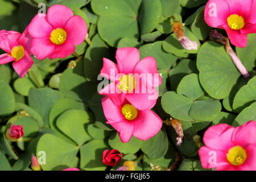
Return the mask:
<svg viewBox="0 0 256 182"><path fill-rule="evenodd" d="M250 144L245 148L246 159L241 165L243 171L256 171L256 144Z"/></svg>

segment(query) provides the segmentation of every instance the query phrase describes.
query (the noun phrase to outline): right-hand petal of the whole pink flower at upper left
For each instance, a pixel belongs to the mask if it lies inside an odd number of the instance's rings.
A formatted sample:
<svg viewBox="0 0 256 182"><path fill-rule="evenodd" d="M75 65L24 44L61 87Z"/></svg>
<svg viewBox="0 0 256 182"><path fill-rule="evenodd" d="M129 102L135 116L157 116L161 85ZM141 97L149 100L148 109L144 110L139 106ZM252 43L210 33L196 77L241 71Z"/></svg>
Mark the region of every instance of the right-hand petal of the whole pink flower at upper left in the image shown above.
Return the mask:
<svg viewBox="0 0 256 182"><path fill-rule="evenodd" d="M67 32L67 40L73 45L84 42L87 34L87 26L81 16L73 16L68 20L64 27Z"/></svg>

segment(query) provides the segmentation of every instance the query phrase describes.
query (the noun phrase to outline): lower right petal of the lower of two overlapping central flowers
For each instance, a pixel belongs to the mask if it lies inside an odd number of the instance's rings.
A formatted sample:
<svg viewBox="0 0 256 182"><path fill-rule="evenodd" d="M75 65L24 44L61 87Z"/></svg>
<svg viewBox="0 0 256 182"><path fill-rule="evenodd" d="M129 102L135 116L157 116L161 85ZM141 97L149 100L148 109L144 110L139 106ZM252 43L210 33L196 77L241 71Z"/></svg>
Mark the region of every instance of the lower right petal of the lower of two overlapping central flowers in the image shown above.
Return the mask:
<svg viewBox="0 0 256 182"><path fill-rule="evenodd" d="M154 137L161 130L163 121L151 110L141 110L134 119L134 137L147 140Z"/></svg>

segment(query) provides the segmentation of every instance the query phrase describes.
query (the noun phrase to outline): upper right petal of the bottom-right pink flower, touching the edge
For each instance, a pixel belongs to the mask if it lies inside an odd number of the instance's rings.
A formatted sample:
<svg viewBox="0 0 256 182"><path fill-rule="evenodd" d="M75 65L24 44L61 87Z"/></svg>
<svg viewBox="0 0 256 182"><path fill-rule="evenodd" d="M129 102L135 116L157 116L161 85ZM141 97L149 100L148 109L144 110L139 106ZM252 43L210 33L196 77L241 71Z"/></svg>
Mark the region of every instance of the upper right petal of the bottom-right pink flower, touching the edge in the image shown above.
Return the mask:
<svg viewBox="0 0 256 182"><path fill-rule="evenodd" d="M248 143L256 144L256 122L249 121L236 127L232 134L232 142L234 145L246 146Z"/></svg>

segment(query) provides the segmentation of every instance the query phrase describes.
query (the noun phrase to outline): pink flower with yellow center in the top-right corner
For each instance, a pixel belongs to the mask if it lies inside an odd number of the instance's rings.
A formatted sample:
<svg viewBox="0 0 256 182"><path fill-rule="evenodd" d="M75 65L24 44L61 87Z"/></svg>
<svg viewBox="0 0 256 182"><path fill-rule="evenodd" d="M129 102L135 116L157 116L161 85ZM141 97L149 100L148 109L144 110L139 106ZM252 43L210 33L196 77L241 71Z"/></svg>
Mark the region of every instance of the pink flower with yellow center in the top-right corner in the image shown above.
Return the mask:
<svg viewBox="0 0 256 182"><path fill-rule="evenodd" d="M256 33L256 1L209 0L204 19L210 27L225 29L232 44L246 47L247 34Z"/></svg>

